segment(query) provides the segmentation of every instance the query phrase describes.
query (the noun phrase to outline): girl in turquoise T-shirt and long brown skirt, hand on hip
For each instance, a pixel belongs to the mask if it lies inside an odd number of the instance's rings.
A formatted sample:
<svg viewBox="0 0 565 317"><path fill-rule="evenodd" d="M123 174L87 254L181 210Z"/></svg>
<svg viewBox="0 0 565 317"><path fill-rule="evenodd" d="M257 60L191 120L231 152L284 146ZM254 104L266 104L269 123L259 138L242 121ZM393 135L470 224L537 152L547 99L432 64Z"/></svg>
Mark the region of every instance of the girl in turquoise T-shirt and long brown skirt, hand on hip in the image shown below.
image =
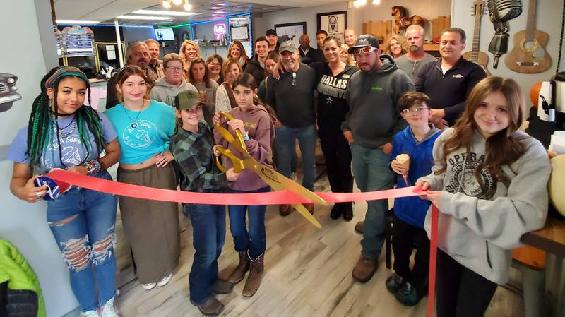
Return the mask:
<svg viewBox="0 0 565 317"><path fill-rule="evenodd" d="M176 190L177 177L169 165L174 108L148 100L148 85L138 66L126 66L117 73L120 103L105 112L122 149L117 179ZM143 289L166 285L179 262L178 204L119 196L119 208Z"/></svg>

